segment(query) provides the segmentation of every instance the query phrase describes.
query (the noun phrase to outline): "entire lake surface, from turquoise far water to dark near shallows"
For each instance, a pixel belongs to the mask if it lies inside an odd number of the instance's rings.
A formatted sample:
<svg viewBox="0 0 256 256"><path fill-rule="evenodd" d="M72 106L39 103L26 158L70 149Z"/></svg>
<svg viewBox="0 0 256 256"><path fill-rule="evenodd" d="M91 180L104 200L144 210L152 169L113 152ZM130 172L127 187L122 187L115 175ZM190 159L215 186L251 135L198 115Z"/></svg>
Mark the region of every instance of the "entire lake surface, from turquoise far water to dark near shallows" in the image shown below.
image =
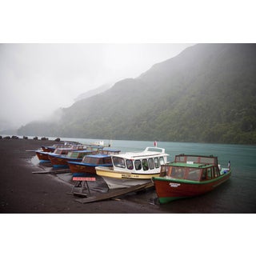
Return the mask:
<svg viewBox="0 0 256 256"><path fill-rule="evenodd" d="M54 139L54 138L50 138ZM90 138L62 138L63 141L95 142ZM154 146L154 142L104 140L111 148L127 151L141 151L146 146ZM163 213L255 213L256 212L256 146L158 142L158 147L166 149L170 161L176 154L205 154L218 156L222 167L231 163L230 180L216 190L196 198L186 198L165 205L159 205L155 190L126 196L126 199L138 203L157 205Z"/></svg>

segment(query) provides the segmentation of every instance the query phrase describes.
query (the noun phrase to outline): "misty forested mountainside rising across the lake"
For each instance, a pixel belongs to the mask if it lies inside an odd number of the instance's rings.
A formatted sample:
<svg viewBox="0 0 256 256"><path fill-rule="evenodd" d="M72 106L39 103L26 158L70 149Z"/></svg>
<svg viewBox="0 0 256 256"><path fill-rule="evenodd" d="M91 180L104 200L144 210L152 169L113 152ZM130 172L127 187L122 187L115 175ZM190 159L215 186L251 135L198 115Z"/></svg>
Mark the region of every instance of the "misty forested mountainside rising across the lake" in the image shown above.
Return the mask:
<svg viewBox="0 0 256 256"><path fill-rule="evenodd" d="M255 57L255 44L191 46L18 134L255 144Z"/></svg>

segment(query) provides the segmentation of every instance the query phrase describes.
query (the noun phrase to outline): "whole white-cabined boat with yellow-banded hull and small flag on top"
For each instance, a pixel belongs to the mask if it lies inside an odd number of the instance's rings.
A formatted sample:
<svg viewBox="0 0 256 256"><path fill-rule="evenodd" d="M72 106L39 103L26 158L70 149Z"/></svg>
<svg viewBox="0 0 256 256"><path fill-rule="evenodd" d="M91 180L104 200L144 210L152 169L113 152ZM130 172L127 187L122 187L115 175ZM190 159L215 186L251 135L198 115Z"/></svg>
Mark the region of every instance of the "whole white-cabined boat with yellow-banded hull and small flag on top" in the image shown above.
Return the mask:
<svg viewBox="0 0 256 256"><path fill-rule="evenodd" d="M168 157L165 149L148 146L140 152L111 155L112 167L98 166L95 169L110 189L126 188L158 177L161 165L168 162Z"/></svg>

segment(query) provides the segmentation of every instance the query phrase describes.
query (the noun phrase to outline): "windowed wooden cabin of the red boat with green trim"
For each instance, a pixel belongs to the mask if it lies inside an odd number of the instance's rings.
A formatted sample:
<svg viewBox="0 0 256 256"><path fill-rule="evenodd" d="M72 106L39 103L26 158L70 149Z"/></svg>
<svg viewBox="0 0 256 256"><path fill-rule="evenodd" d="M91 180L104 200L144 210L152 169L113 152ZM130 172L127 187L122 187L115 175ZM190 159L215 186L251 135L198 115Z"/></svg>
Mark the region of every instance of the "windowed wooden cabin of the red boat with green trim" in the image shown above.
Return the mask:
<svg viewBox="0 0 256 256"><path fill-rule="evenodd" d="M171 162L161 167L160 177L206 181L220 176L218 166L202 163Z"/></svg>

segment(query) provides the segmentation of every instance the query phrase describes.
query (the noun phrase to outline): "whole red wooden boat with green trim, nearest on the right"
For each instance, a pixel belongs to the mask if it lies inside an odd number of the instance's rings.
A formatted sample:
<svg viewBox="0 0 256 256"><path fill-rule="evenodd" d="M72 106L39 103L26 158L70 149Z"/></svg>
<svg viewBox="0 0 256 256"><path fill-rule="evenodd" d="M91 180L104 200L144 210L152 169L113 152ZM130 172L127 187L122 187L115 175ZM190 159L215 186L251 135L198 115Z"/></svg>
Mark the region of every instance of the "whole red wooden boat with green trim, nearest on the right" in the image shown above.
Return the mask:
<svg viewBox="0 0 256 256"><path fill-rule="evenodd" d="M226 168L213 155L175 156L174 162L162 165L159 177L153 177L160 203L206 194L226 182L231 175L230 162Z"/></svg>

